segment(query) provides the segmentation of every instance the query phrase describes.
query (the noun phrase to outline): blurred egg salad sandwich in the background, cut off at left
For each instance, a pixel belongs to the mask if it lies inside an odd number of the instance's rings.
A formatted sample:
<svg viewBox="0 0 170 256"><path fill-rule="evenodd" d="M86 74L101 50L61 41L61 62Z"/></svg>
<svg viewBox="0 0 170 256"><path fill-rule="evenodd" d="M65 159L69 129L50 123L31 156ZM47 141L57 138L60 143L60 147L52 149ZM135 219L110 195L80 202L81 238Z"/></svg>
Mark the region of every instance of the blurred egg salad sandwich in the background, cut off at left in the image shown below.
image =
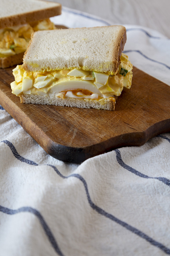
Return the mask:
<svg viewBox="0 0 170 256"><path fill-rule="evenodd" d="M55 29L50 17L61 4L42 0L0 0L0 68L22 63L31 34Z"/></svg>

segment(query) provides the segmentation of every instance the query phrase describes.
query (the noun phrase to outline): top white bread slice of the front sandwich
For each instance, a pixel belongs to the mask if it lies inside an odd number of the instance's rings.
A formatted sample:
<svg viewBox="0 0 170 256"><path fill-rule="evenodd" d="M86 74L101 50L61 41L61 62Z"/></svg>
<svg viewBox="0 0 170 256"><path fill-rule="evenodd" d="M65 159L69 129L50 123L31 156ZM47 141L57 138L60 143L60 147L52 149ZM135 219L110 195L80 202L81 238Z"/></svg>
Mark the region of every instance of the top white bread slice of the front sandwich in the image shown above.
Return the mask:
<svg viewBox="0 0 170 256"><path fill-rule="evenodd" d="M82 68L116 74L126 43L121 25L33 33L23 58L27 72Z"/></svg>

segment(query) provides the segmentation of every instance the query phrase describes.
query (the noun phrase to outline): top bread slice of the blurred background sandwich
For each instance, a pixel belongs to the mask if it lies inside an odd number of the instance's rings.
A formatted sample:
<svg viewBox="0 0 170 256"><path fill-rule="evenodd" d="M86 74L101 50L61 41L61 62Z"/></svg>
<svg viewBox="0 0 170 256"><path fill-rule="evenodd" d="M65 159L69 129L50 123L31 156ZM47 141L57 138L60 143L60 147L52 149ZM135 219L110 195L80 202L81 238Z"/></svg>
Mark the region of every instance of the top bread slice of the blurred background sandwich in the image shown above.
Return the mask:
<svg viewBox="0 0 170 256"><path fill-rule="evenodd" d="M1 0L0 29L61 14L61 4L43 0Z"/></svg>

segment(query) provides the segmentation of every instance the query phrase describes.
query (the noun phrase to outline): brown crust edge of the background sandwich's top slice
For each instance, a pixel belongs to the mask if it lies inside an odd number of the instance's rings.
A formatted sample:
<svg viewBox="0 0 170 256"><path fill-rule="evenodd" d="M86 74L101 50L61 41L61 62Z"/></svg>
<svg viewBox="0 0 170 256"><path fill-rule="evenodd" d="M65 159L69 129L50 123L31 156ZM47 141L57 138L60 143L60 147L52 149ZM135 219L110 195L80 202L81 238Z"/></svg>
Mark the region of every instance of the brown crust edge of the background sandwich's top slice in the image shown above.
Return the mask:
<svg viewBox="0 0 170 256"><path fill-rule="evenodd" d="M48 1L44 1L44 2L49 3ZM23 4L24 4L24 1L23 1ZM35 10L32 12L25 12L17 15L8 16L8 17L2 17L0 18L0 29L22 25L32 21L44 20L56 15L60 15L61 9L62 9L61 4L59 3L54 3L54 4L56 4L56 6L45 8L42 10Z"/></svg>

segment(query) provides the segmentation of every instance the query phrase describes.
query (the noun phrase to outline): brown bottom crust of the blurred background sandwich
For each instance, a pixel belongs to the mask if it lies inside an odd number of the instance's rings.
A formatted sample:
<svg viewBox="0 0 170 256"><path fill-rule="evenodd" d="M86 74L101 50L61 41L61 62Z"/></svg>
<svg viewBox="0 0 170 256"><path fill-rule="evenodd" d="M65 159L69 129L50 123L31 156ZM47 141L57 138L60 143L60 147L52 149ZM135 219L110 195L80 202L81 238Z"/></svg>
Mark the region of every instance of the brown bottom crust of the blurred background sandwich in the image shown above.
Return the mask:
<svg viewBox="0 0 170 256"><path fill-rule="evenodd" d="M0 68L9 68L23 61L24 52L11 55L9 57L0 58Z"/></svg>

